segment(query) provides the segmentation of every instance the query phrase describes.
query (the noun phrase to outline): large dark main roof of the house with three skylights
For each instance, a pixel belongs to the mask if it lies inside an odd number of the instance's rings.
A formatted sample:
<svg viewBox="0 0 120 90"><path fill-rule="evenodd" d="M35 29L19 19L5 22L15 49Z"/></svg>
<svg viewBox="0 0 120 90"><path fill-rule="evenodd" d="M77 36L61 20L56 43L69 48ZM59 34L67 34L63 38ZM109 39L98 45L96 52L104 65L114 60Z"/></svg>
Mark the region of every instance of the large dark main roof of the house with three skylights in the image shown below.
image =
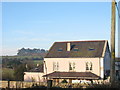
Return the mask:
<svg viewBox="0 0 120 90"><path fill-rule="evenodd" d="M55 42L45 58L102 57L106 40ZM67 51L70 43L70 51Z"/></svg>

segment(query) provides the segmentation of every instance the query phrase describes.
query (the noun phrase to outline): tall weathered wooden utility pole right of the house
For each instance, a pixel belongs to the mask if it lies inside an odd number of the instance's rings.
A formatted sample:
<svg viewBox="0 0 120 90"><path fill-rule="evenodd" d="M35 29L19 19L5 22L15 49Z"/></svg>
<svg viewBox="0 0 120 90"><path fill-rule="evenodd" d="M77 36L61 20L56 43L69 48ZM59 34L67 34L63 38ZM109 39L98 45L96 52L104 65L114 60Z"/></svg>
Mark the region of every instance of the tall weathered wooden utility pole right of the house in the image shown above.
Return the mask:
<svg viewBox="0 0 120 90"><path fill-rule="evenodd" d="M110 65L110 82L114 85L115 82L115 25L116 25L116 11L115 11L115 0L112 0L112 18L111 18L111 65Z"/></svg>

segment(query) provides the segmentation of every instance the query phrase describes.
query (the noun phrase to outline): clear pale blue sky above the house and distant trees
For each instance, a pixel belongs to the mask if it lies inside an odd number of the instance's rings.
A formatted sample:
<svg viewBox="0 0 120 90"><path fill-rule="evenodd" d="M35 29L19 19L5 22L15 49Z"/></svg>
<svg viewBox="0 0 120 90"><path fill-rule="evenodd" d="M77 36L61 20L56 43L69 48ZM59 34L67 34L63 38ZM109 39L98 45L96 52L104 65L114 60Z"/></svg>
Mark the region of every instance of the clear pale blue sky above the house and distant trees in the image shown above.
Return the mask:
<svg viewBox="0 0 120 90"><path fill-rule="evenodd" d="M2 55L23 47L49 50L56 41L110 42L110 30L110 2L2 3Z"/></svg>

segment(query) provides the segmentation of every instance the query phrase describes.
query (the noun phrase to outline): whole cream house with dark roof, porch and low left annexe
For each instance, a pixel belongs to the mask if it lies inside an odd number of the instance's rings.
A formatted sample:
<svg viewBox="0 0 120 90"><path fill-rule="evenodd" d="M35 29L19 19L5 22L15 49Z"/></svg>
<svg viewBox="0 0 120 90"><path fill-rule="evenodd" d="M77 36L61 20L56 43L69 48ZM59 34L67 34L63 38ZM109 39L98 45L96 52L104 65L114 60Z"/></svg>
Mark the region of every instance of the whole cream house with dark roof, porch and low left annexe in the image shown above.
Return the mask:
<svg viewBox="0 0 120 90"><path fill-rule="evenodd" d="M110 75L110 50L107 40L55 42L44 58L44 72L25 72L24 80L45 78L100 80ZM28 79L29 78L29 79Z"/></svg>

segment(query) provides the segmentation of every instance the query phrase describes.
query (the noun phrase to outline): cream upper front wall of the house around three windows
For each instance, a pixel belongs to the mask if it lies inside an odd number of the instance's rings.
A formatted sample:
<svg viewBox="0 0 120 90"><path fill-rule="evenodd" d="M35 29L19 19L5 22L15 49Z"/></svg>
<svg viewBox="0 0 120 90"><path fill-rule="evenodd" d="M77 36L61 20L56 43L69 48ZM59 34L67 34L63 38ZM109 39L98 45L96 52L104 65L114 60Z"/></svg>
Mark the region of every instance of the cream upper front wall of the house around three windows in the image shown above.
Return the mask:
<svg viewBox="0 0 120 90"><path fill-rule="evenodd" d="M45 58L44 61L47 66L47 74L53 72L53 62L59 63L58 71L65 72L69 71L69 62L75 62L76 72L86 72L86 62L92 62L93 70L91 72L101 76L99 58ZM44 72L46 72L45 67L44 70Z"/></svg>

